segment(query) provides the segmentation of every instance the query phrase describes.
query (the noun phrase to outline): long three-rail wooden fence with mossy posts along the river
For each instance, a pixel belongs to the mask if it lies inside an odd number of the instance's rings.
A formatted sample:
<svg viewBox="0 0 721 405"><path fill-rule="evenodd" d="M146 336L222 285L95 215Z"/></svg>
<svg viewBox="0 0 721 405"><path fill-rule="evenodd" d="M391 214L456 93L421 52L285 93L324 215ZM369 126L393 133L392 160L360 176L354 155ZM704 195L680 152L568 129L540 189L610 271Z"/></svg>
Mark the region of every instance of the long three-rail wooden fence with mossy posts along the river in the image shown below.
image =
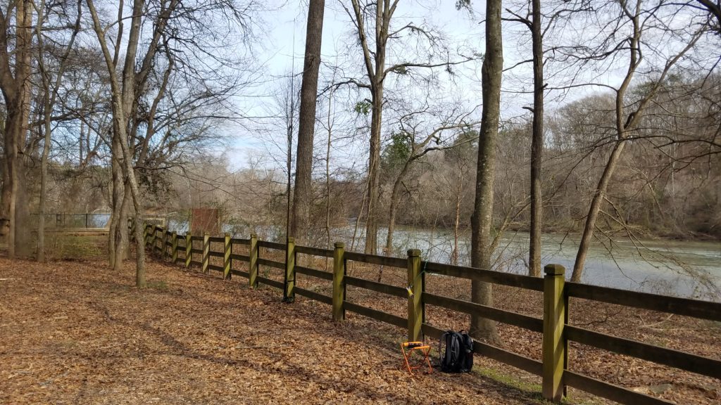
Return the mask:
<svg viewBox="0 0 721 405"><path fill-rule="evenodd" d="M133 235L132 221L130 226L131 235ZM407 258L384 257L346 252L344 244L340 242L335 244L335 249L319 249L309 246L296 246L292 238L289 238L286 244L280 244L271 241L260 241L255 235L251 235L249 239L231 238L228 233L225 236L209 236L208 234L196 236L190 233L178 235L175 232L165 231L159 226L151 225L146 225L144 237L146 246L150 246L154 252L161 253L164 259L172 263L184 264L185 267L200 267L202 272L210 270L222 272L224 277L231 277L231 275L245 277L248 279L251 288L257 288L259 283L279 288L283 291L285 301L293 301L295 295L298 294L311 300L326 303L332 307L332 318L336 321L342 321L345 319L345 311L351 311L381 322L407 328L408 340L410 341L421 340L424 335L438 339L443 334L442 329L425 323L425 304L448 308L461 313L474 314L539 332L543 334L542 361L518 355L484 342L475 342L474 352L541 376L542 395L544 399L554 402L560 401L565 396L565 387L570 386L622 404L673 404L663 399L569 370L568 342L571 341L721 379L721 360L622 337L614 337L568 324L569 301L575 298L674 313L717 322L721 321L721 303L567 282L565 281L565 269L559 264L549 264L544 267L545 277L539 278L451 264L425 262L421 259L420 251L417 249L409 250ZM211 244L220 243L224 246L222 251L211 249ZM200 245L200 247L196 248L195 245ZM247 246L249 254L234 253L234 246ZM282 252L286 258L285 262L260 257L261 247L275 249L279 253ZM332 258L333 271L327 272L296 265L296 254ZM194 258L198 257L200 261L194 260ZM223 265L211 264L211 257L220 258ZM232 264L236 261L246 262L248 271L235 270ZM345 271L347 263L351 261L407 269L409 287L402 288L351 277ZM285 272L285 281L280 282L269 277L262 277L258 273L260 266L283 270ZM492 308L469 301L427 293L425 292L426 274L479 280L492 284L539 291L543 293L543 318L540 319L500 308ZM299 288L295 282L297 275L317 277L331 282L332 295L328 296ZM346 301L345 290L348 285L399 298L407 298L407 318Z"/></svg>

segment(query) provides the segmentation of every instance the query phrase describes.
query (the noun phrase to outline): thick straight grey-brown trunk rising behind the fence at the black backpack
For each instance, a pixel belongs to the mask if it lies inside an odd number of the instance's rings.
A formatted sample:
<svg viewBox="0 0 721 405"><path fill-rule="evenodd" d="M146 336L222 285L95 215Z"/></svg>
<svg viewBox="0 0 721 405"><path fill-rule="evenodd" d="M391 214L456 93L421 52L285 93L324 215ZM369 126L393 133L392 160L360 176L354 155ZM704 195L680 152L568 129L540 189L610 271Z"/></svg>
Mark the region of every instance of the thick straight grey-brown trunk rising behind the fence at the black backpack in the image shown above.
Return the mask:
<svg viewBox="0 0 721 405"><path fill-rule="evenodd" d="M476 197L471 221L471 266L490 270L492 252L491 226L493 221L493 181L495 176L495 147L500 120L500 85L503 73L503 42L501 35L501 1L486 1L486 54L482 66L483 110L479 133ZM493 305L491 285L473 280L471 299L485 306ZM495 322L481 316L471 316L474 336L489 342L499 342Z"/></svg>

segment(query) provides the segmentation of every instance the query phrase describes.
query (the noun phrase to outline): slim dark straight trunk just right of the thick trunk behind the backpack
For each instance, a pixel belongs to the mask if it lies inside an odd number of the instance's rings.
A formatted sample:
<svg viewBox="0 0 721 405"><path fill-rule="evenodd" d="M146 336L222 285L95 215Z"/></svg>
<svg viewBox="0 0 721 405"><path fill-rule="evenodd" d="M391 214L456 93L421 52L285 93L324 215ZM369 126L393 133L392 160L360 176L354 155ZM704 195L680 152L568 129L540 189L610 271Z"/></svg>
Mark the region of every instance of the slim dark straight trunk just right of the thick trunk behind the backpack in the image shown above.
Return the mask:
<svg viewBox="0 0 721 405"><path fill-rule="evenodd" d="M543 155L544 77L541 0L532 0L531 37L534 53L534 124L531 135L531 235L528 246L528 275L541 277L541 156Z"/></svg>

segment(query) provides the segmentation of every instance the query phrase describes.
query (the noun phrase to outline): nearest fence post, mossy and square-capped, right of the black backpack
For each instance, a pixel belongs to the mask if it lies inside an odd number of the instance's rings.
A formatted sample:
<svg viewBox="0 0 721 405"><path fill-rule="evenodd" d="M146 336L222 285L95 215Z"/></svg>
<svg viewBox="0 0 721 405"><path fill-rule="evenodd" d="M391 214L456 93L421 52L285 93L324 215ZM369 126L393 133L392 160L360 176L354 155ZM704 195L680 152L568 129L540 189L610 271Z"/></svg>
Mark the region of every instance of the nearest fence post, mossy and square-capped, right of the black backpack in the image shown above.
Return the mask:
<svg viewBox="0 0 721 405"><path fill-rule="evenodd" d="M563 396L563 368L567 342L563 334L566 319L565 268L544 267L543 293L543 397L559 402Z"/></svg>

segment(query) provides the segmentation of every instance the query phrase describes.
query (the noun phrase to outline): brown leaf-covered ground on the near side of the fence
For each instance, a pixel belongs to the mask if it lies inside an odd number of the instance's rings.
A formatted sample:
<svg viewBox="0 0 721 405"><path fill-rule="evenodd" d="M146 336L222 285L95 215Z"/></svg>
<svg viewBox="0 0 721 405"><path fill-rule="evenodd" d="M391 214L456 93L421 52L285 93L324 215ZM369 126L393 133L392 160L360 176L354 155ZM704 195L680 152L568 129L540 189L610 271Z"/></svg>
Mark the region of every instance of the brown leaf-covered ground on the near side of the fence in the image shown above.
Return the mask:
<svg viewBox="0 0 721 405"><path fill-rule="evenodd" d="M404 331L149 264L0 258L1 404L529 404L482 375L410 376Z"/></svg>

